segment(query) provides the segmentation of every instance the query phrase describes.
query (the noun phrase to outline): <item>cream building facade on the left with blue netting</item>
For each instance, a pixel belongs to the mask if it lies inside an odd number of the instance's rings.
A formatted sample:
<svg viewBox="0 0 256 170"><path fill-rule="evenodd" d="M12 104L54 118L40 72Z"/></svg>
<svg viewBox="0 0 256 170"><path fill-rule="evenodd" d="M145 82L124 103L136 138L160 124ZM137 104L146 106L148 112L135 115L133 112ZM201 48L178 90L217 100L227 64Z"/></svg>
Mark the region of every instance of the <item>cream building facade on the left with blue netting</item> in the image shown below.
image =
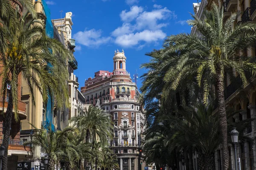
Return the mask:
<svg viewBox="0 0 256 170"><path fill-rule="evenodd" d="M43 20L46 25L47 35L60 41L73 54L76 45L75 40L71 39L72 13L67 12L64 18L51 20L50 10L45 0L36 0L33 1L33 4L38 13L38 18ZM63 29L66 27L69 29ZM33 89L35 96L35 105L33 105L26 81L21 80L21 100L24 102L24 108L27 112L27 117L21 121L20 140L22 142L29 141L32 138L33 127L30 124L37 128L47 128L49 126L52 130L62 130L68 126L70 115L75 115L73 111L75 111L74 107L76 107L78 99L76 95L79 85L78 77L73 74L74 70L78 68L77 65L76 59L67 58L67 69L70 74L67 82L70 86L72 85L72 88L69 88L71 108L57 109L55 103L51 103L50 100L47 106L43 105L41 93L36 88ZM26 162L31 168L38 170L44 166L41 159L45 155L41 153L40 147L36 147L35 150L32 150L32 153L30 157L26 156L26 158L19 159L19 163Z"/></svg>

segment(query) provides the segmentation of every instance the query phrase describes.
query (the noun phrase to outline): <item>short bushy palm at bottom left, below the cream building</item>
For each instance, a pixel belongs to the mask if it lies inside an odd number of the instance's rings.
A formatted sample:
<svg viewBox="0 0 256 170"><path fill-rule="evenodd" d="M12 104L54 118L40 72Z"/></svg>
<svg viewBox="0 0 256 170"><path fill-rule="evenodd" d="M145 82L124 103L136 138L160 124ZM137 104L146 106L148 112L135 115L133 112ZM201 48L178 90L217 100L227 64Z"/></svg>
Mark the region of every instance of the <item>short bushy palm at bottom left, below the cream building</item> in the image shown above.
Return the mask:
<svg viewBox="0 0 256 170"><path fill-rule="evenodd" d="M25 142L24 145L30 145L32 149L40 146L41 152L45 153L49 159L49 170L55 169L55 164L59 161L69 161L70 165L73 165L74 158L76 159L79 155L79 150L72 142L75 133L78 130L74 127L65 127L62 131L53 131L52 128L38 129L33 126L34 133L31 141ZM72 159L73 158L73 159Z"/></svg>

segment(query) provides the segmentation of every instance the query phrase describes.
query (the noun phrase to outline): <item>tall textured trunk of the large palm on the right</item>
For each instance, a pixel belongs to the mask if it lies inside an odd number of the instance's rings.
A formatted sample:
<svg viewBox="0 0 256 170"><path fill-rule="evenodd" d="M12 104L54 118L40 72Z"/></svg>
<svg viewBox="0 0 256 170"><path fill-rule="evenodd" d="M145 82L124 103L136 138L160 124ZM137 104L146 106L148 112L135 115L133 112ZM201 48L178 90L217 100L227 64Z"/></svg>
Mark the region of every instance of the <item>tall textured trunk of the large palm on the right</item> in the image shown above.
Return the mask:
<svg viewBox="0 0 256 170"><path fill-rule="evenodd" d="M219 127L221 130L221 146L222 146L222 158L223 158L223 168L228 170L229 168L229 154L227 148L227 113L225 108L224 99L224 71L223 68L218 69L217 76L217 95L218 95L218 117L219 117Z"/></svg>

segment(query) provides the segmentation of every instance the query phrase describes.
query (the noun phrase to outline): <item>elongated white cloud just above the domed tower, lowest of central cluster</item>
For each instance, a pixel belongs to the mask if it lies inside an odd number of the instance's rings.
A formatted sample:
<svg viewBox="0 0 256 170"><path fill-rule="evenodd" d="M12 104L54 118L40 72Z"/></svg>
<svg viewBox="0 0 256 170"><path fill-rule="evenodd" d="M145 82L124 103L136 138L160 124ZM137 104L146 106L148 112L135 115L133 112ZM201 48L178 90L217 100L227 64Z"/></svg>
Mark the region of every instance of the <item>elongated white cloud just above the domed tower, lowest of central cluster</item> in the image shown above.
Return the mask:
<svg viewBox="0 0 256 170"><path fill-rule="evenodd" d="M140 42L155 42L157 40L163 40L166 34L162 30L144 30L142 32L125 34L116 37L115 43L124 47L131 47L138 45ZM141 45L140 45L141 46ZM142 46L143 48L143 46Z"/></svg>

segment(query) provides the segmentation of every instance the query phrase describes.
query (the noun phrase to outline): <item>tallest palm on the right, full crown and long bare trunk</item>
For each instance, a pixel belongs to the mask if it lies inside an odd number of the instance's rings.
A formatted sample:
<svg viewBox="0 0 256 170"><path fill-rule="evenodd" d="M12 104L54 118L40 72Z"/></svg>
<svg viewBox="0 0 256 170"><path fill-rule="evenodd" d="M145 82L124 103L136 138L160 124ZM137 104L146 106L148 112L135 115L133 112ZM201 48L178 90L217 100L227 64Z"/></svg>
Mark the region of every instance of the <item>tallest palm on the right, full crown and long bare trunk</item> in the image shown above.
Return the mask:
<svg viewBox="0 0 256 170"><path fill-rule="evenodd" d="M240 56L239 51L252 47L256 41L256 24L240 23L236 25L239 13L233 13L224 21L223 9L216 4L211 11L205 11L205 19L192 16L189 25L196 26L197 35L177 34L167 38L161 51L163 63L158 72L164 74L163 94L179 88L184 79L196 80L203 89L203 101L208 105L212 84L216 84L218 99L218 119L221 134L224 170L228 169L227 114L224 103L224 78L227 74L234 79L234 72L246 85L251 74L256 73L256 63L251 56ZM233 25L234 26L233 28Z"/></svg>

